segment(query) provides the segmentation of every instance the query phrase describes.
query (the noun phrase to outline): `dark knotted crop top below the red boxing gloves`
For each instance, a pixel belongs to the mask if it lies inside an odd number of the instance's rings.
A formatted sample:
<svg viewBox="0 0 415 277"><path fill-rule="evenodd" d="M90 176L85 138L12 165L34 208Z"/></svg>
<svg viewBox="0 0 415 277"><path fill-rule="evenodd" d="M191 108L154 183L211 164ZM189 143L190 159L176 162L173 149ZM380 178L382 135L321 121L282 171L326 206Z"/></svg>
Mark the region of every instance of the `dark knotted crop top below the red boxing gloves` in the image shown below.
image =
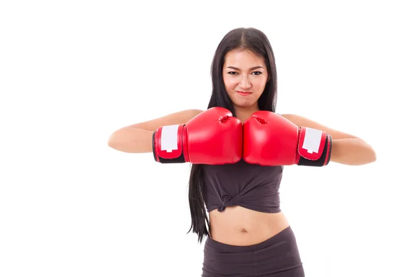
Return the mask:
<svg viewBox="0 0 415 277"><path fill-rule="evenodd" d="M223 166L203 165L203 199L208 212L242 206L264 213L278 213L279 184L283 166L259 166L246 161Z"/></svg>

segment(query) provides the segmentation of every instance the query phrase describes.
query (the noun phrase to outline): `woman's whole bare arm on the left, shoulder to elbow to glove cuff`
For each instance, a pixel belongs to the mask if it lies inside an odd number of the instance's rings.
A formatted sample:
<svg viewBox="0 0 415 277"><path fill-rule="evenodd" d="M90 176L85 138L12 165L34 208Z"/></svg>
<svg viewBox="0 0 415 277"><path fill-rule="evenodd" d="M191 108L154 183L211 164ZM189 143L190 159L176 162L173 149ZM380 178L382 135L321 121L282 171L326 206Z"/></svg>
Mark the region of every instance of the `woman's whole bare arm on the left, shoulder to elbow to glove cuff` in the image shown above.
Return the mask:
<svg viewBox="0 0 415 277"><path fill-rule="evenodd" d="M158 127L186 124L201 112L199 109L187 109L153 120L122 127L109 136L108 145L110 148L126 153L151 153L153 152L153 133Z"/></svg>

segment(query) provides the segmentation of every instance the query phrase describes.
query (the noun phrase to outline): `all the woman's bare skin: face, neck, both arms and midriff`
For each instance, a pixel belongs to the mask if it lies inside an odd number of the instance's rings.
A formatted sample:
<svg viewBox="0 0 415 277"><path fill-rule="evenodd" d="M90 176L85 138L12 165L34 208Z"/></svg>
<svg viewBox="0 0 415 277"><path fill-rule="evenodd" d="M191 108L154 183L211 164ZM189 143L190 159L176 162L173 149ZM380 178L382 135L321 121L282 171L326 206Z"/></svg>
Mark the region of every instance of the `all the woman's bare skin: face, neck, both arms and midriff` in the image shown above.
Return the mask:
<svg viewBox="0 0 415 277"><path fill-rule="evenodd" d="M259 67L258 67L259 66ZM253 69L255 68L255 69ZM223 82L228 96L234 103L236 117L245 122L258 111L258 99L268 81L268 72L263 57L251 51L236 49L225 55ZM238 91L249 91L241 96ZM152 152L153 132L160 126L186 124L203 112L187 109L160 118L136 123L118 129L111 134L108 145L122 152ZM311 127L330 134L333 138L331 162L359 166L376 161L371 145L351 134L324 126L296 114L282 114L298 127ZM241 206L227 207L219 213L210 212L212 239L232 245L252 245L273 237L289 226L284 213L261 213Z"/></svg>

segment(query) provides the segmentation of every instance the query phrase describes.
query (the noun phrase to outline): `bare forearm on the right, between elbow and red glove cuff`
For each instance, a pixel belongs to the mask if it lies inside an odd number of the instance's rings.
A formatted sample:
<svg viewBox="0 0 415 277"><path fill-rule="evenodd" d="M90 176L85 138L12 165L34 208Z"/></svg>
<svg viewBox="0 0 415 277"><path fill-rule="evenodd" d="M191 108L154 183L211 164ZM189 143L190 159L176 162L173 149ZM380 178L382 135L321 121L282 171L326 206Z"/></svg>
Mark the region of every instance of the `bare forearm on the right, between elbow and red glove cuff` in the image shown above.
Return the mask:
<svg viewBox="0 0 415 277"><path fill-rule="evenodd" d="M376 161L376 152L362 139L333 139L330 161L360 166Z"/></svg>

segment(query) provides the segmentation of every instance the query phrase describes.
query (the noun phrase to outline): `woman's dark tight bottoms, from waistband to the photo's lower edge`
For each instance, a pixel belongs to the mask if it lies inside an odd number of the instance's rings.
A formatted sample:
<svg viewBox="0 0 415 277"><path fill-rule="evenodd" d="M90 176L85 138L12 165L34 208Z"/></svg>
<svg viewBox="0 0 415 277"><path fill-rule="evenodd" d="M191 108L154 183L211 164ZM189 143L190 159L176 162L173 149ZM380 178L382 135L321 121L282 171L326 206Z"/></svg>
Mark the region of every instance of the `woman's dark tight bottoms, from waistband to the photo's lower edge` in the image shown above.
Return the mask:
<svg viewBox="0 0 415 277"><path fill-rule="evenodd" d="M272 238L249 246L223 244L208 237L202 277L304 277L291 226Z"/></svg>

